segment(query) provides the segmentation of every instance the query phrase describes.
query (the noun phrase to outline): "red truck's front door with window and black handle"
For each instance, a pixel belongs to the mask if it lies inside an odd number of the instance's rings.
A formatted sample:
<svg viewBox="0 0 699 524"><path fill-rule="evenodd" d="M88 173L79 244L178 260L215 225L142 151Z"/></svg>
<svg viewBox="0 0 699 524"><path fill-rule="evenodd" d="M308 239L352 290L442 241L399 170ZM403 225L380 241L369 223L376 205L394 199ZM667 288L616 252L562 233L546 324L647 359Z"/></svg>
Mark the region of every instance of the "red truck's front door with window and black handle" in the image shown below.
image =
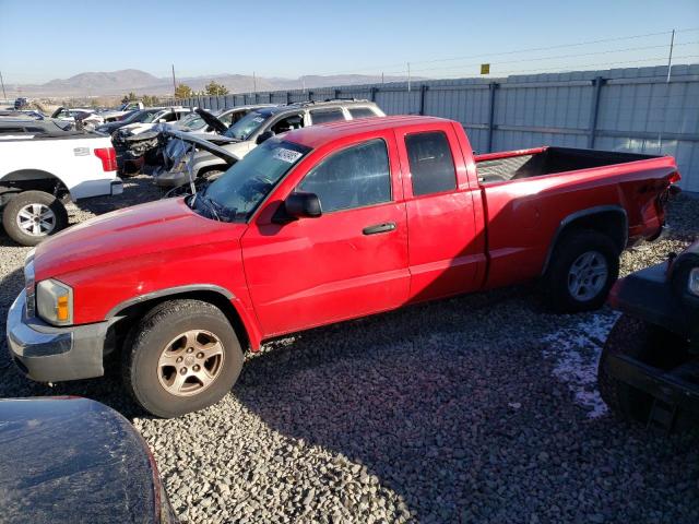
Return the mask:
<svg viewBox="0 0 699 524"><path fill-rule="evenodd" d="M334 150L294 189L317 194L321 216L250 225L242 257L265 336L405 302L407 227L399 172L392 132Z"/></svg>

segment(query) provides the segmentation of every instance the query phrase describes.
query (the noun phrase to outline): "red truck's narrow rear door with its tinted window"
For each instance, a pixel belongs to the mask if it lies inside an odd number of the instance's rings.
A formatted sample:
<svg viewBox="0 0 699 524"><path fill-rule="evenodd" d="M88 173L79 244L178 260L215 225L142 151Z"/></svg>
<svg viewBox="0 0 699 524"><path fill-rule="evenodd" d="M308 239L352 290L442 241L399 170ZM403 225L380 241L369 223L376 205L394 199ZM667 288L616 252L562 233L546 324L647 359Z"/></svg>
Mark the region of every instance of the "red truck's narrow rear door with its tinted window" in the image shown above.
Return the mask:
<svg viewBox="0 0 699 524"><path fill-rule="evenodd" d="M396 132L408 229L410 301L478 287L485 254L466 166L450 124Z"/></svg>

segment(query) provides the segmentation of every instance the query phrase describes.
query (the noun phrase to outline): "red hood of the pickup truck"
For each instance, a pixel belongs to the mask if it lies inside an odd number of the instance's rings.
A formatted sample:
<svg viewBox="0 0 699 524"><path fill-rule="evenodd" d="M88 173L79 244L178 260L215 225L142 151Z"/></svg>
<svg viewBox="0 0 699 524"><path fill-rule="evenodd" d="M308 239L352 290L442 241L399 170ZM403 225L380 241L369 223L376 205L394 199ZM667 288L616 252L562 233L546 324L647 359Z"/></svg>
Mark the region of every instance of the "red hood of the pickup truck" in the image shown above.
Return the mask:
<svg viewBox="0 0 699 524"><path fill-rule="evenodd" d="M36 281L111 264L149 253L180 250L240 238L245 224L212 221L190 210L185 199L126 207L50 237L36 248Z"/></svg>

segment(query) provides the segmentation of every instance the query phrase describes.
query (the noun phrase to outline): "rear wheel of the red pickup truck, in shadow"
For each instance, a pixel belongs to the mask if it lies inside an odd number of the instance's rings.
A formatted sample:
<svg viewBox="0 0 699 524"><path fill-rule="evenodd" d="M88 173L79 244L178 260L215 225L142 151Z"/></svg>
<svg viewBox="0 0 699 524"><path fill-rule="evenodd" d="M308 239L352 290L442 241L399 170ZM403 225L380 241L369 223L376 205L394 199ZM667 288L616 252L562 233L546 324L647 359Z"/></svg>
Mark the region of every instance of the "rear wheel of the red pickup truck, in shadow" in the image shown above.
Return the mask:
<svg viewBox="0 0 699 524"><path fill-rule="evenodd" d="M588 229L567 233L544 277L546 301L558 313L599 309L618 276L619 250L609 237Z"/></svg>

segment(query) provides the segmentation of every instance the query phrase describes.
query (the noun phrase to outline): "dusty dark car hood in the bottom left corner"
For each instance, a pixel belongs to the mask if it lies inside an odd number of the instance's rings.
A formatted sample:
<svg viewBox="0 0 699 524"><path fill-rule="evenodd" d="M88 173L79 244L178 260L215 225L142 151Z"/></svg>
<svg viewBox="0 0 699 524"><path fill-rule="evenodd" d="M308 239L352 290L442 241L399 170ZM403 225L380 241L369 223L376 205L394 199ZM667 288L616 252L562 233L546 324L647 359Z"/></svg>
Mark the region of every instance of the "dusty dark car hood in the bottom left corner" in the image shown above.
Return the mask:
<svg viewBox="0 0 699 524"><path fill-rule="evenodd" d="M145 442L98 402L0 400L0 442L3 523L178 522Z"/></svg>

